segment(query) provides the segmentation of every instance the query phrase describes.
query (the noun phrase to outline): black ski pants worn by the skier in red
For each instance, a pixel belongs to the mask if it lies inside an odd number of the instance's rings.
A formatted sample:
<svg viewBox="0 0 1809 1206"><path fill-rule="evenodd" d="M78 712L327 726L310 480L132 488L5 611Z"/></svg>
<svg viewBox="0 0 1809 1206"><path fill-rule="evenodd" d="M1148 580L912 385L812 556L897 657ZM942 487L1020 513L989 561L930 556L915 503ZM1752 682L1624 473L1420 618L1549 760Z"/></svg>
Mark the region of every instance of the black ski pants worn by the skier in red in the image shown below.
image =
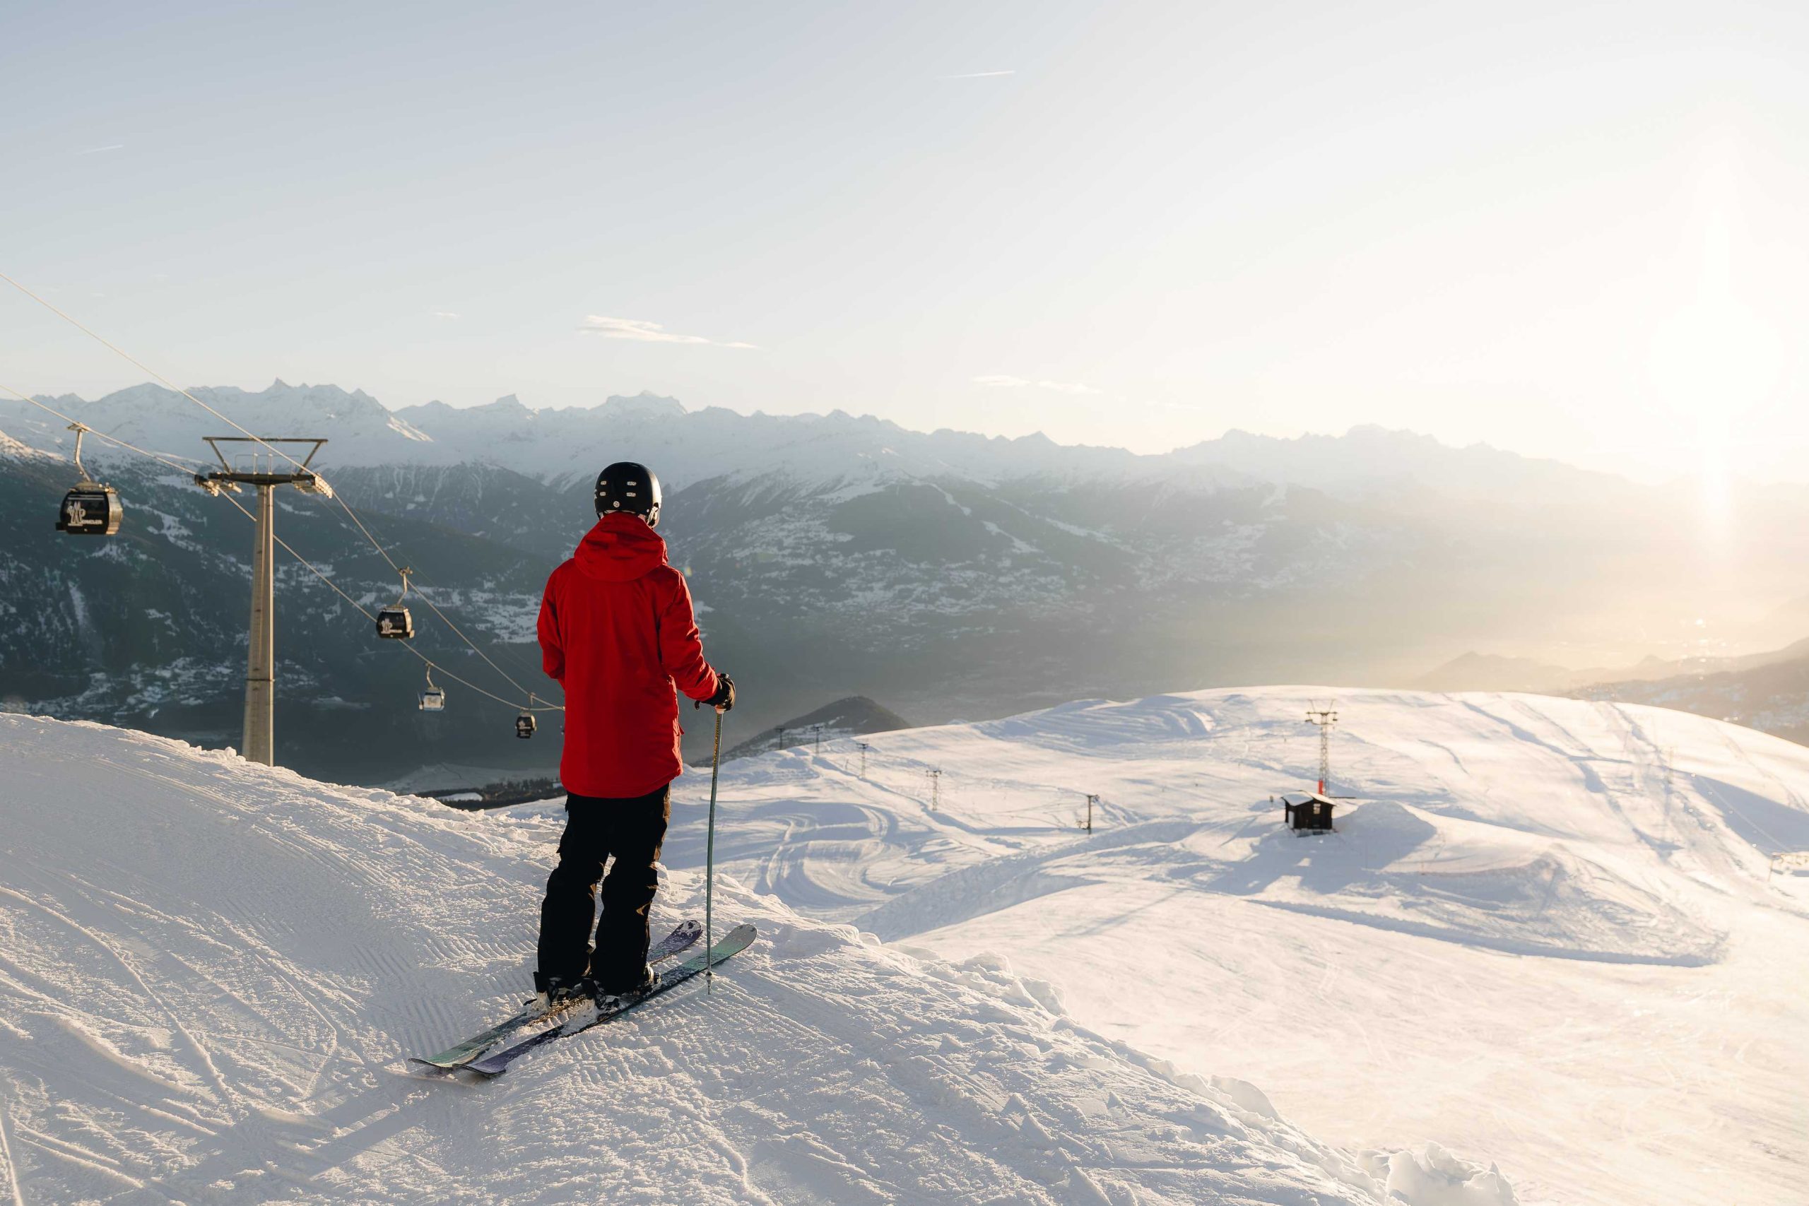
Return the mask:
<svg viewBox="0 0 1809 1206"><path fill-rule="evenodd" d="M660 890L660 844L671 819L671 785L628 799L566 796L559 866L541 904L541 980L590 975L604 993L640 984L648 966L648 909ZM602 866L615 859L610 875ZM597 920L602 881L602 920ZM597 944L592 947L592 926Z"/></svg>

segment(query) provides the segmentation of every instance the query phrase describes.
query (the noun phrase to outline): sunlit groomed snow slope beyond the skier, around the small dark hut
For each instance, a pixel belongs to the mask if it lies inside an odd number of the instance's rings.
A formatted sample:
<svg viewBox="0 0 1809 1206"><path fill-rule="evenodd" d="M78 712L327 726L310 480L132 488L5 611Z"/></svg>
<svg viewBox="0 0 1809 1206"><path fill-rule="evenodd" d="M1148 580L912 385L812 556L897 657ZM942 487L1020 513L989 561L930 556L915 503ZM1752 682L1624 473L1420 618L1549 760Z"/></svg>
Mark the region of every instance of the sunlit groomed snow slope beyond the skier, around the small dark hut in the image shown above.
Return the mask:
<svg viewBox="0 0 1809 1206"><path fill-rule="evenodd" d="M1809 859L1771 855L1809 850L1809 750L1650 707L1340 691L1331 790L1357 799L1295 837L1272 796L1317 776L1302 714L1330 694L874 734L865 779L850 741L749 758L716 857L906 949L1004 955L1319 1135L1487 1154L1523 1202L1805 1201ZM700 864L696 834L666 857Z"/></svg>

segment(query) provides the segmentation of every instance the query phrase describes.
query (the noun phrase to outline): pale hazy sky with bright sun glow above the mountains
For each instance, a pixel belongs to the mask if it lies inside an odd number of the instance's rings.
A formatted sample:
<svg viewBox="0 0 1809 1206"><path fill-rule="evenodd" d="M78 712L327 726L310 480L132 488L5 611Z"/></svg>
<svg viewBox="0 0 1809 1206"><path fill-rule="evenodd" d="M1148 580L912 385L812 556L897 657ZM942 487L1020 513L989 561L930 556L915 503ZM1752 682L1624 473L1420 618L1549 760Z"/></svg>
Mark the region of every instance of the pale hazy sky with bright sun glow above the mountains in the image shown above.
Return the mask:
<svg viewBox="0 0 1809 1206"><path fill-rule="evenodd" d="M393 407L1809 481L1805 146L1800 4L0 7L0 271ZM0 385L145 380L0 293Z"/></svg>

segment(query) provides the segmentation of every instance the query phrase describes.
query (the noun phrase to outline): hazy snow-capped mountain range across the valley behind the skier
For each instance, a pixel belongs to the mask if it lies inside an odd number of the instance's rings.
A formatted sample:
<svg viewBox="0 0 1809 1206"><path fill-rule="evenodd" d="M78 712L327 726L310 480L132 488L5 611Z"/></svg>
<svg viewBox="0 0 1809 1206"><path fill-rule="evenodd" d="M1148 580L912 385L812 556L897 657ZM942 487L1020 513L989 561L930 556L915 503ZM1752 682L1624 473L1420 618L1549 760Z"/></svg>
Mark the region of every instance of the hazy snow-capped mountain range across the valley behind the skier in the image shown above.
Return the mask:
<svg viewBox="0 0 1809 1206"><path fill-rule="evenodd" d="M555 703L534 645L546 575L593 523L597 468L655 466L711 662L742 685L724 725L736 754L776 747L780 727L787 745L810 723L865 730L801 714L836 696L986 718L1225 682L1386 682L1453 647L1512 647L1532 624L1547 645L1632 664L1650 651L1626 633L1800 597L1809 562L1809 497L1742 512L1746 544L1710 571L1675 535L1693 530L1684 492L1373 427L1132 456L653 394L391 412L333 385L194 392L262 436L327 438L315 465L414 584ZM197 466L203 436L223 434L150 385L47 401ZM0 512L16 517L0 524L0 709L239 745L251 524L185 474L90 441L125 523L69 539L52 523L71 432L20 401L0 401ZM275 528L362 606L396 598L393 566L336 506L284 492ZM436 617L416 626L425 656L514 698ZM279 550L279 765L385 783L441 761L501 777L555 761L555 714L521 741L510 705L456 682L440 682L443 712L420 711L421 665L394 644ZM702 720L686 711L693 761Z"/></svg>

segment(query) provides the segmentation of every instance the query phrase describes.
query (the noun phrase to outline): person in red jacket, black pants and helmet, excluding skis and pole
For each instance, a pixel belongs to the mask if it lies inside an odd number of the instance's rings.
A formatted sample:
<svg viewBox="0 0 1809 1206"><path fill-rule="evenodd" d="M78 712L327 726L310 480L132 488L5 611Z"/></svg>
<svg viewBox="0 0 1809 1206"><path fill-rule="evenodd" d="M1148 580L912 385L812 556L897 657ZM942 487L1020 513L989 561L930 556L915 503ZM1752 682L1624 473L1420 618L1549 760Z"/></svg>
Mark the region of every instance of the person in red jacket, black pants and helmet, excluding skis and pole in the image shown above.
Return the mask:
<svg viewBox="0 0 1809 1206"><path fill-rule="evenodd" d="M546 579L541 600L541 660L566 696L566 828L534 973L543 1005L653 987L648 909L671 781L684 772L675 683L718 712L734 707L734 683L704 660L691 591L666 562L658 521L660 483L648 466L619 461L597 474L597 526Z"/></svg>

